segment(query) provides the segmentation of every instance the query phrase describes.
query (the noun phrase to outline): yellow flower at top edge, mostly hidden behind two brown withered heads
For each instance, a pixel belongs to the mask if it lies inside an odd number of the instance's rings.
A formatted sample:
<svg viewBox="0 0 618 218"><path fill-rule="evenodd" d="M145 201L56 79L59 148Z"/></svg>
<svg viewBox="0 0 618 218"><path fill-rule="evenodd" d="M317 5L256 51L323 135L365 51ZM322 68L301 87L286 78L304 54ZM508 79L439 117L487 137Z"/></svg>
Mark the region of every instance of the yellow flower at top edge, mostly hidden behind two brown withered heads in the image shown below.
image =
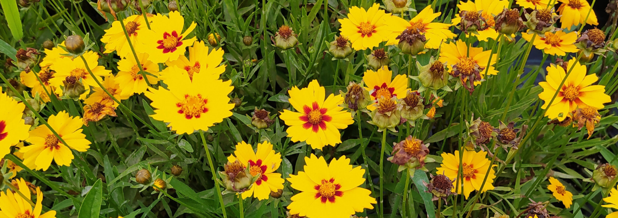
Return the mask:
<svg viewBox="0 0 618 218"><path fill-rule="evenodd" d="M485 18L485 22L489 26L485 30L478 31L478 34L472 33L472 36L476 36L479 41L488 41L488 38L496 39L498 37L498 32L494 30L494 26L496 25L496 20L494 20L494 16L500 14L502 9L505 9L509 6L509 1L506 0L476 0L460 2L457 4L457 7L460 11L468 11L468 12L479 12L481 17ZM459 14L456 15L452 20L453 25L457 25L461 22L461 17ZM512 35L515 37L515 34Z"/></svg>

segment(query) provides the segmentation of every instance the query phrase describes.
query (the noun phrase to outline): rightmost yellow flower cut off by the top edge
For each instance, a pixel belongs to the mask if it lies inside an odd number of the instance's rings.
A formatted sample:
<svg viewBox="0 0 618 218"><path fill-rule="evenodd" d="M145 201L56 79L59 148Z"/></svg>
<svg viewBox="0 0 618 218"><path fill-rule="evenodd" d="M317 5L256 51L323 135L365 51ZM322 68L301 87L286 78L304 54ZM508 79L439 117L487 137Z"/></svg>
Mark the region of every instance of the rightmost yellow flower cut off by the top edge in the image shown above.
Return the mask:
<svg viewBox="0 0 618 218"><path fill-rule="evenodd" d="M582 23L588 23L590 25L599 25L596 20L595 10L590 9L590 4L586 0L558 0L562 2L558 7L558 12L562 16L560 22L562 25L560 28L569 29L573 26L580 25ZM590 15L588 12L590 11ZM588 20L586 20L588 17Z"/></svg>

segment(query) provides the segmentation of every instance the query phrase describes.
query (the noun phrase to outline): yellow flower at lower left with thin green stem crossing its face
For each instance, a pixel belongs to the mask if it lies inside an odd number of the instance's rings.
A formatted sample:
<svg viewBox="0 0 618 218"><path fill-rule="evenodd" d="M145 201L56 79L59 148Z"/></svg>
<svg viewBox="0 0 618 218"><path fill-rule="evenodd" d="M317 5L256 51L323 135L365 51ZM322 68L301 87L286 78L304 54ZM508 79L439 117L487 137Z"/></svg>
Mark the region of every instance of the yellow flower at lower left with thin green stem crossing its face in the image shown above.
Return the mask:
<svg viewBox="0 0 618 218"><path fill-rule="evenodd" d="M36 127L26 139L30 145L20 149L25 157L23 163L27 166L36 165L35 169L46 171L52 159L59 166L69 166L74 158L71 149L85 152L90 148L90 141L82 133L82 118L60 111L57 115L49 116L47 122L67 144L62 143L47 126Z"/></svg>

